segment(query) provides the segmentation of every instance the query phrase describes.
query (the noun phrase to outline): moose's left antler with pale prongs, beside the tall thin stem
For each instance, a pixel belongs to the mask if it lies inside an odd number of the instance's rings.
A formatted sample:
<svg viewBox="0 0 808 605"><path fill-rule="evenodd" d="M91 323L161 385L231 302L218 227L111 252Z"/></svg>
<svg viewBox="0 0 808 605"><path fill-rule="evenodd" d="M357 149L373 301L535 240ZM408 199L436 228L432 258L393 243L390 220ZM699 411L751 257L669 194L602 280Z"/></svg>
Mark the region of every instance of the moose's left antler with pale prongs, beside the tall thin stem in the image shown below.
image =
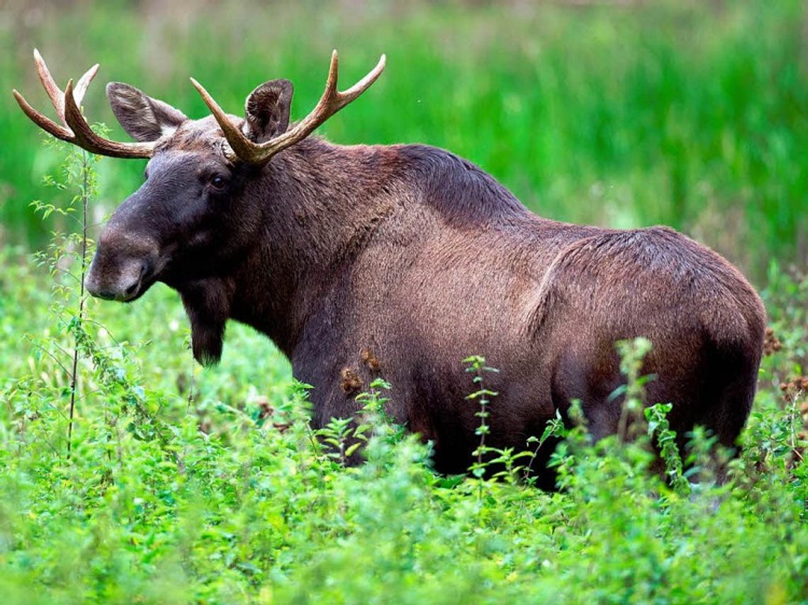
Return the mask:
<svg viewBox="0 0 808 605"><path fill-rule="evenodd" d="M79 78L76 86L73 86L73 80L67 82L65 91L62 92L53 77L50 74L48 65L45 65L44 59L40 52L34 49L34 61L36 61L36 72L40 76L42 86L48 97L53 104L53 109L56 110L57 116L61 124L57 124L48 116L44 116L40 111L36 111L25 100L23 95L20 95L17 90L13 90L14 98L17 99L20 109L25 112L31 121L42 128L45 132L52 134L61 141L67 141L78 145L82 149L86 149L90 153L98 153L99 155L106 155L110 158L151 158L154 154L154 143L119 143L110 141L93 132L90 124L82 116L82 110L78 106L84 99L87 86L95 78L95 74L99 70L99 65L96 63L90 69L87 69L86 74Z"/></svg>

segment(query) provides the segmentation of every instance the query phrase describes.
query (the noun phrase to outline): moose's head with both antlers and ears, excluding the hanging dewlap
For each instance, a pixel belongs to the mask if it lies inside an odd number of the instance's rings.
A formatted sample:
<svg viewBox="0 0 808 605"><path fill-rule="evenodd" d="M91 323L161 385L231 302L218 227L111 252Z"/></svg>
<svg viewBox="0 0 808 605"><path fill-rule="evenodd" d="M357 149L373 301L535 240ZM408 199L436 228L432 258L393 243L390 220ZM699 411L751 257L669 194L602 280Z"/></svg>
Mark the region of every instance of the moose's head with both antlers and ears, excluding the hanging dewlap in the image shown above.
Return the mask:
<svg viewBox="0 0 808 605"><path fill-rule="evenodd" d="M308 137L359 97L385 69L375 68L348 90L337 90L338 57L331 55L326 89L303 120L289 128L292 82L264 82L246 98L244 117L222 111L191 78L213 116L190 120L182 111L128 84L107 84L107 99L120 125L135 139L100 137L79 106L99 65L64 92L34 51L36 68L61 124L36 111L14 90L26 115L46 132L91 153L112 158L148 158L145 183L112 214L86 276L93 296L130 301L155 281L175 287L234 263L261 225L257 204L234 204L250 195L250 183L273 156Z"/></svg>

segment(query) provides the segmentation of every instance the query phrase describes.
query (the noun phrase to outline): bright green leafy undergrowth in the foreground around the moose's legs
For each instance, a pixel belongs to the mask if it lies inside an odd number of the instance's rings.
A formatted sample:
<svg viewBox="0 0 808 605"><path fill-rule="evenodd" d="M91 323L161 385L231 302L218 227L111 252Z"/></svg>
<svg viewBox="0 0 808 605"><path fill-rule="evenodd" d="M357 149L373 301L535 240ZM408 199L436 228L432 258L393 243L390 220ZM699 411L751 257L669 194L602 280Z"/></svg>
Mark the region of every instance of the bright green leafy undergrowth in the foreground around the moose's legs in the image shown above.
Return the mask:
<svg viewBox="0 0 808 605"><path fill-rule="evenodd" d="M88 301L68 459L70 303L30 259L0 260L6 603L808 599L808 404L779 388L806 362L808 280L772 269L783 347L764 359L728 485L671 489L642 446L591 447L578 429L556 456L565 489L545 494L436 476L427 448L378 418L368 463L343 468L314 446L271 344L230 326L221 366L201 370L161 286Z"/></svg>

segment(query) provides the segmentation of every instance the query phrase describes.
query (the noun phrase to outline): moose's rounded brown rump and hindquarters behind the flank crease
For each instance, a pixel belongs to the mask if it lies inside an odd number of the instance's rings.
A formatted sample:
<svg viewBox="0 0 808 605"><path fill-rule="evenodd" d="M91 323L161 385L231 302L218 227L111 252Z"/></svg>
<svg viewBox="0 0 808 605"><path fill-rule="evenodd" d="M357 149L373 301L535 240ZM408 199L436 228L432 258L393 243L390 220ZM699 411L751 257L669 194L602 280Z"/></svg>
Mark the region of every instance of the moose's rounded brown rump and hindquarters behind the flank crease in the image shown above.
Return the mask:
<svg viewBox="0 0 808 605"><path fill-rule="evenodd" d="M528 320L544 342L553 405L581 401L595 439L617 432L623 397L615 342L650 339L649 403L673 404L680 448L694 425L734 447L755 394L764 309L712 250L667 227L605 232L562 250Z"/></svg>

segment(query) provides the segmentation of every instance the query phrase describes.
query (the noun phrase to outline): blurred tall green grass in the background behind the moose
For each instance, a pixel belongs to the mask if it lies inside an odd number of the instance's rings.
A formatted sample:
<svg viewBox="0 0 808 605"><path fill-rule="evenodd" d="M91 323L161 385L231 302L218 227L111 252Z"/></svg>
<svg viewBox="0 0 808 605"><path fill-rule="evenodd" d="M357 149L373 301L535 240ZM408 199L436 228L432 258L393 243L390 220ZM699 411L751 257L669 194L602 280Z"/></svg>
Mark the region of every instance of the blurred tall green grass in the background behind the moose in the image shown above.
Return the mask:
<svg viewBox="0 0 808 605"><path fill-rule="evenodd" d="M350 143L451 149L528 207L564 221L663 223L713 246L762 285L772 258L808 259L808 3L778 2L6 2L0 11L0 246L41 246L28 208L58 158L11 88L49 108L57 82L102 70L85 101L113 125L105 82L206 111L267 79L296 86L293 119L318 99L331 48L347 86L386 53L385 74L320 132ZM143 162L100 164L106 212Z"/></svg>

